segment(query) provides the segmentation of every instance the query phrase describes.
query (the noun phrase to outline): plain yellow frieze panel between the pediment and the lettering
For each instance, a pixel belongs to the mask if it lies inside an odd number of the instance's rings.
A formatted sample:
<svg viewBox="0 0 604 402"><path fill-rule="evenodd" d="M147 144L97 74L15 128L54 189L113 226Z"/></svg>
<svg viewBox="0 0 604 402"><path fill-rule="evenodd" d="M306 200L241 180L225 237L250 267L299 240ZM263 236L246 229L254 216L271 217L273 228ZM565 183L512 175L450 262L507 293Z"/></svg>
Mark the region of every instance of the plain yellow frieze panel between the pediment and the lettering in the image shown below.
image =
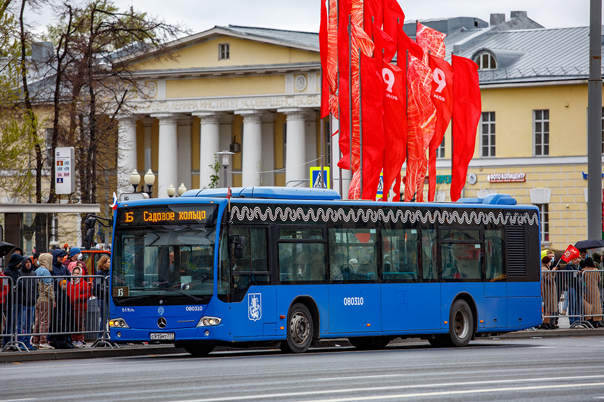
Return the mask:
<svg viewBox="0 0 604 402"><path fill-rule="evenodd" d="M283 75L254 77L217 77L197 80L166 80L166 98L193 98L200 96L259 95L284 93Z"/></svg>

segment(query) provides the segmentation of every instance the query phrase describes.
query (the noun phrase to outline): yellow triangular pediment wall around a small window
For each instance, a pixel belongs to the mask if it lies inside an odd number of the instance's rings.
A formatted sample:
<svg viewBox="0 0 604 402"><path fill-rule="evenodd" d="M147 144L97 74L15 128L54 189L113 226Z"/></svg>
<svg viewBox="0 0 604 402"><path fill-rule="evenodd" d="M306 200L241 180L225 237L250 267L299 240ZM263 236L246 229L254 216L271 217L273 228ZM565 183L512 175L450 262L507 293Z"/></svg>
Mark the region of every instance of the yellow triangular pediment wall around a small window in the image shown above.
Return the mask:
<svg viewBox="0 0 604 402"><path fill-rule="evenodd" d="M230 57L218 60L218 45L229 44ZM134 64L138 70L212 68L258 64L286 64L319 61L318 52L292 49L234 37L219 37L197 45L187 46L172 53L175 59L150 59Z"/></svg>

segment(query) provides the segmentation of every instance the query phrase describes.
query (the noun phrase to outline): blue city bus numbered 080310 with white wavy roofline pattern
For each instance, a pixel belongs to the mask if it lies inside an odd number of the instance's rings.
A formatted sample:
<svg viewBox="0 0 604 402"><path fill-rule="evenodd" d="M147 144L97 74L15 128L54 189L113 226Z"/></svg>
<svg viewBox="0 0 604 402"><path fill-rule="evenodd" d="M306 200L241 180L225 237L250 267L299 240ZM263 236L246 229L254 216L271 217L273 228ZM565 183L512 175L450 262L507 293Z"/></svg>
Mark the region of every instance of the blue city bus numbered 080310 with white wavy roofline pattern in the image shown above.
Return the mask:
<svg viewBox="0 0 604 402"><path fill-rule="evenodd" d="M539 218L509 195L342 201L329 189L189 190L121 202L109 297L115 342L303 353L395 338L463 347L541 324Z"/></svg>

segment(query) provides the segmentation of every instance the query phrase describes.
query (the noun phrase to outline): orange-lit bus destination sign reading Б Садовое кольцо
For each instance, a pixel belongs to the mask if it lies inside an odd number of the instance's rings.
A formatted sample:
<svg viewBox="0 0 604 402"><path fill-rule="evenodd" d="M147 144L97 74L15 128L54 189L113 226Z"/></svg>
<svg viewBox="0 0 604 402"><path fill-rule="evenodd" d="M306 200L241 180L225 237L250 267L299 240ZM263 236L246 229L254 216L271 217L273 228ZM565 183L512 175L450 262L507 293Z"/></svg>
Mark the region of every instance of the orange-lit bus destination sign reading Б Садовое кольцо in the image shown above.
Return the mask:
<svg viewBox="0 0 604 402"><path fill-rule="evenodd" d="M216 222L216 205L172 205L120 209L121 225L204 224Z"/></svg>

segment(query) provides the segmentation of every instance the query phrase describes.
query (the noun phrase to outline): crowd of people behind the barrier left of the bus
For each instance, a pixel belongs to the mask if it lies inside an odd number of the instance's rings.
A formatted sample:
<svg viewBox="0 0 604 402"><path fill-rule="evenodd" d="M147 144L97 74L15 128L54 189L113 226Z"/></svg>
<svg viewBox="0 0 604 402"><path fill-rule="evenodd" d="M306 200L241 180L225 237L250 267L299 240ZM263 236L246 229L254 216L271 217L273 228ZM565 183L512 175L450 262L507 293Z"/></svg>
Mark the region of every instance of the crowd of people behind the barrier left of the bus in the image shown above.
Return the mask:
<svg viewBox="0 0 604 402"><path fill-rule="evenodd" d="M109 257L101 256L97 272L88 272L78 247L22 254L20 248L13 250L0 272L0 350L14 340L15 333L18 347L24 350L83 348L89 300L96 298L100 307L100 317L95 318L101 319L94 330L101 330L105 321Z"/></svg>

